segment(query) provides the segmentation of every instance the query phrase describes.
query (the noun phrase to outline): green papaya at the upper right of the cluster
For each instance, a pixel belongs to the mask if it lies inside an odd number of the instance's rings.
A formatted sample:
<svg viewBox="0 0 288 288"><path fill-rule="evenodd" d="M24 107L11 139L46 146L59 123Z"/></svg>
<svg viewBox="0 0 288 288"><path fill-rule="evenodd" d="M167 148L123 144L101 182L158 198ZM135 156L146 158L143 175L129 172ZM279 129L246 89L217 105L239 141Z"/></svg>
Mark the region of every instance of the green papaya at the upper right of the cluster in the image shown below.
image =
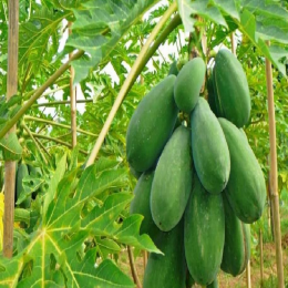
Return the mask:
<svg viewBox="0 0 288 288"><path fill-rule="evenodd" d="M213 74L218 115L243 127L249 120L251 103L240 62L230 51L220 50L215 58Z"/></svg>

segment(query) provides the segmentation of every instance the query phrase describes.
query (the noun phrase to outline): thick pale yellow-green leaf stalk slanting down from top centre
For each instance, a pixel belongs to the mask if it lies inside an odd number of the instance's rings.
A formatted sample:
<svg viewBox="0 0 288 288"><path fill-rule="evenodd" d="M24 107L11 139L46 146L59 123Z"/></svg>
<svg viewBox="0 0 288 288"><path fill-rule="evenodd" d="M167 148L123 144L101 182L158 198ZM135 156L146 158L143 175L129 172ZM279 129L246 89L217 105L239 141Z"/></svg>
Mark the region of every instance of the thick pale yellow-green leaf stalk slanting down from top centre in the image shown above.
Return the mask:
<svg viewBox="0 0 288 288"><path fill-rule="evenodd" d="M143 49L141 50L136 61L134 62L128 76L126 78L124 84L122 85L119 95L110 111L110 114L106 119L106 122L96 140L96 143L92 150L92 153L89 156L89 160L86 162L86 166L90 166L94 163L97 153L102 146L102 143L104 142L104 138L109 132L109 128L112 124L113 119L116 115L116 112L119 110L119 107L121 106L122 101L124 100L125 95L127 94L127 92L130 91L131 86L133 85L134 81L136 80L136 78L138 76L138 74L141 73L142 69L145 66L145 64L147 63L148 59L151 58L151 55L153 55L153 53L157 50L157 48L160 47L160 44L162 43L162 41L167 37L167 34L169 34L171 31L173 31L173 29L175 29L175 27L177 27L181 23L178 14L174 17L174 21L172 20L171 24L163 31L163 33L158 37L157 40L161 41L155 41L154 45L150 49L150 45L152 44L152 42L155 40L155 38L157 37L157 34L160 33L160 31L162 30L162 28L165 25L165 23L168 21L168 19L171 18L171 16L176 11L177 9L177 4L176 2L174 2L168 10L164 13L164 16L162 17L162 19L160 20L160 22L156 24L156 27L153 29L151 35L148 37L147 41L145 42ZM164 35L164 39L163 39Z"/></svg>

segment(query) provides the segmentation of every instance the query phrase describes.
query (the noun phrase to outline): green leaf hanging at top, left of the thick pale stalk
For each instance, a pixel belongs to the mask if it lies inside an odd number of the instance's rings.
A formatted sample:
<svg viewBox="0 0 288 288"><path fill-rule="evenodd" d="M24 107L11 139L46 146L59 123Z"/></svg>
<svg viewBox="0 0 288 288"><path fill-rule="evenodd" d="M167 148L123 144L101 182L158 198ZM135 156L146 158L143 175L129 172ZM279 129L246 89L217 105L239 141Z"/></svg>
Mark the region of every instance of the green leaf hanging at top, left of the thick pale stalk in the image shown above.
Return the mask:
<svg viewBox="0 0 288 288"><path fill-rule="evenodd" d="M73 9L75 21L66 49L82 49L85 58L73 61L74 82L85 79L89 71L103 61L142 14L158 0L92 0L81 10Z"/></svg>

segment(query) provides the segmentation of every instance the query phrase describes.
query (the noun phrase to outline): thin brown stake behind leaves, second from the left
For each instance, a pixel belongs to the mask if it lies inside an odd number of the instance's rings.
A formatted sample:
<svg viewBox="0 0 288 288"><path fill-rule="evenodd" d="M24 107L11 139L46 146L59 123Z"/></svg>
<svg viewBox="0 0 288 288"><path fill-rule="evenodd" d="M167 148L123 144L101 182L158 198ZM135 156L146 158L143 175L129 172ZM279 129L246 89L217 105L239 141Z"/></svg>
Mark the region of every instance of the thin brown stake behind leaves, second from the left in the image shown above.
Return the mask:
<svg viewBox="0 0 288 288"><path fill-rule="evenodd" d="M71 30L72 22L69 22L69 34L72 33ZM69 54L69 59L73 55ZM75 76L74 68L70 66L70 109L71 109L71 132L72 132L72 148L78 144L78 133L76 133L76 86L73 85Z"/></svg>

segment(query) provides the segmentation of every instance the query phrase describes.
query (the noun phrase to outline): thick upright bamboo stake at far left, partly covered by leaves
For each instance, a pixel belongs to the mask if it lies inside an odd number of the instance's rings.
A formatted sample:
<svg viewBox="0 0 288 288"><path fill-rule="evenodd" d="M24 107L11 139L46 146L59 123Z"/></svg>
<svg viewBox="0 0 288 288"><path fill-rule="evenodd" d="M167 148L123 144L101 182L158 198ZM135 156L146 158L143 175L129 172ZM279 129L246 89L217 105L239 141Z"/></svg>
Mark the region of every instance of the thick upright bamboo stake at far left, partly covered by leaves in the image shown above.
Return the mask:
<svg viewBox="0 0 288 288"><path fill-rule="evenodd" d="M19 42L19 1L8 1L9 28L8 28L8 75L7 100L10 100L18 90L18 42ZM13 123L16 124L16 123ZM10 130L11 128L11 130ZM10 130L10 131L9 131ZM8 136L16 131L11 125L2 136ZM16 189L16 162L4 163L4 223L3 223L3 256L11 258L13 255L13 226L14 226L14 189Z"/></svg>

